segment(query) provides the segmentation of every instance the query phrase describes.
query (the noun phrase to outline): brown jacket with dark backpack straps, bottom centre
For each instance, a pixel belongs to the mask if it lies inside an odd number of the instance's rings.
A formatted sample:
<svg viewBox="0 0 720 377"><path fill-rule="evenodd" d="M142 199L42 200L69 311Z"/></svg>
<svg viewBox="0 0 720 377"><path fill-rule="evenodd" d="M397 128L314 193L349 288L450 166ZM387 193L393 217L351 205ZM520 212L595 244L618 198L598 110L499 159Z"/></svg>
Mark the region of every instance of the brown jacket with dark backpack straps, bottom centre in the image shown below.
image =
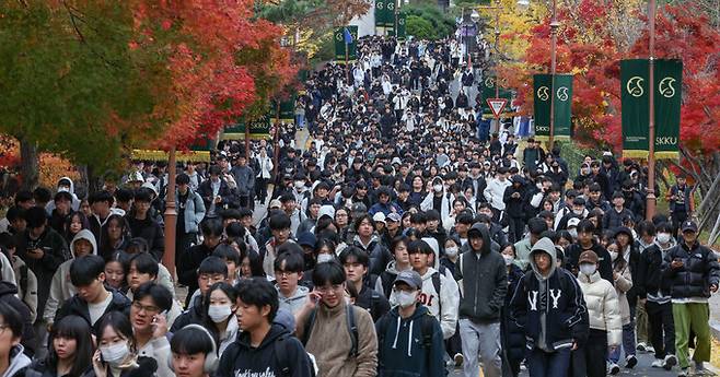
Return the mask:
<svg viewBox="0 0 720 377"><path fill-rule="evenodd" d="M358 327L358 356L350 358L351 339L345 301L334 308L318 305L305 350L315 356L318 377L374 377L378 374L378 337L367 310L352 307Z"/></svg>

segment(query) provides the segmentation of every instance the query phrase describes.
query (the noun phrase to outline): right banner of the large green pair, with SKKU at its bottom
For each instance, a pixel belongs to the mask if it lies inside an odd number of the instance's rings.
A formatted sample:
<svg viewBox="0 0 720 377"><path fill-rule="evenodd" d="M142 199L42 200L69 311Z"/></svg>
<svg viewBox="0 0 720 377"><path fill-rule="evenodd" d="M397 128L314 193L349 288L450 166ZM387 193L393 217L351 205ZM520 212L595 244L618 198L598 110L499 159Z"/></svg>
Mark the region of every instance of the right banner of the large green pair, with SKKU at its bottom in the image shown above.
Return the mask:
<svg viewBox="0 0 720 377"><path fill-rule="evenodd" d="M683 61L655 60L655 158L680 157Z"/></svg>

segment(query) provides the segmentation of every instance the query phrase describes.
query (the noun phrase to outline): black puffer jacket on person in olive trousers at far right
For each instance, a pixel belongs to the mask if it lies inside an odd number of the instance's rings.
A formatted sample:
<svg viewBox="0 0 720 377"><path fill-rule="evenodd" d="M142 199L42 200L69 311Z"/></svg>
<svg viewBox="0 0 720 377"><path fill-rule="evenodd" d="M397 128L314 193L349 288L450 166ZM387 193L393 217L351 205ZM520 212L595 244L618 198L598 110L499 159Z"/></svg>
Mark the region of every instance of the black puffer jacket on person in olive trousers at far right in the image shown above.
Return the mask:
<svg viewBox="0 0 720 377"><path fill-rule="evenodd" d="M684 264L673 269L673 260ZM710 297L710 285L720 284L720 266L715 252L697 241L688 247L682 243L667 251L663 278L669 279L673 298Z"/></svg>

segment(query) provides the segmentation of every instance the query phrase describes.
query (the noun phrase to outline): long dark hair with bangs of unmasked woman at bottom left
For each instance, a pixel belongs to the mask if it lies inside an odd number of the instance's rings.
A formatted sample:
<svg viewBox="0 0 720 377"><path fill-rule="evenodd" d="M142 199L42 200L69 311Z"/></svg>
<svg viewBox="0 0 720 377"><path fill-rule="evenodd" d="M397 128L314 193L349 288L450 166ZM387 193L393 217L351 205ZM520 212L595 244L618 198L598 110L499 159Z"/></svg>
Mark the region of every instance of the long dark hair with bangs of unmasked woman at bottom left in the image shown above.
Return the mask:
<svg viewBox="0 0 720 377"><path fill-rule="evenodd" d="M88 321L79 316L68 316L53 326L49 340L50 350L47 355L47 365L51 370L55 370L58 365L58 354L53 344L56 338L73 339L76 341L74 360L68 376L80 377L92 367L92 357L95 350L93 349L93 339Z"/></svg>

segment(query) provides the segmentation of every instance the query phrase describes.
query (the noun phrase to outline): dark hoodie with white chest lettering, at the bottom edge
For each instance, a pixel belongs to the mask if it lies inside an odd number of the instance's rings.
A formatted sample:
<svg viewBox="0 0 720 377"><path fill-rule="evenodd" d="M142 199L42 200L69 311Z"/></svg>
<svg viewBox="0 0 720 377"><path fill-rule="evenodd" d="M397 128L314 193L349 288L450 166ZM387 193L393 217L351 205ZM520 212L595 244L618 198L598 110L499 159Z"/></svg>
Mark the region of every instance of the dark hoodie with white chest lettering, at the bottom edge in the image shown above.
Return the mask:
<svg viewBox="0 0 720 377"><path fill-rule="evenodd" d="M311 370L302 343L282 326L272 325L257 347L251 345L249 333L241 333L222 353L214 377L310 377Z"/></svg>

